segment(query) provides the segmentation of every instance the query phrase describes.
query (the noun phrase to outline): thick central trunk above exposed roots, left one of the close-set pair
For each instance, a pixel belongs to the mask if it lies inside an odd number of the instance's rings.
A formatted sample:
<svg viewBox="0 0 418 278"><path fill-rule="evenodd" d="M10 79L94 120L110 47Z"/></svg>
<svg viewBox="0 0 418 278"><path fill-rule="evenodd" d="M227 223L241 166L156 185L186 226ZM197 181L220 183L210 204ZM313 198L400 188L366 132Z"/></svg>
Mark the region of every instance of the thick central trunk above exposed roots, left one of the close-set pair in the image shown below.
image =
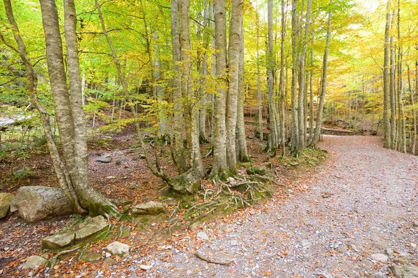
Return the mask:
<svg viewBox="0 0 418 278"><path fill-rule="evenodd" d="M213 122L213 165L210 179L225 179L226 163L226 8L225 0L214 1L217 94Z"/></svg>

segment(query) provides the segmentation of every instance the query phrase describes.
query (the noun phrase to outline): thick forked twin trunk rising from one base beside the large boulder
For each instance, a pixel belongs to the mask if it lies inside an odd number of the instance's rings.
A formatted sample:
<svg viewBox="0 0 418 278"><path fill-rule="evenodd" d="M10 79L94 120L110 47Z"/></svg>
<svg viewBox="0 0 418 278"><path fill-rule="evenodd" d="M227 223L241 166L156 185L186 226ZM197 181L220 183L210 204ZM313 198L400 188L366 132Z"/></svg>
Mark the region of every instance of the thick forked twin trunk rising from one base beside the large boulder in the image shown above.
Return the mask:
<svg viewBox="0 0 418 278"><path fill-rule="evenodd" d="M55 1L40 0L42 25L45 32L47 66L54 97L56 122L58 124L65 167L68 169L72 189L79 204L90 215L115 214L116 206L91 187L88 181L87 143L82 111L82 82L79 76L76 13L72 0L64 1L64 32L67 40L70 92L65 76L63 48ZM71 65L70 65L71 64Z"/></svg>

